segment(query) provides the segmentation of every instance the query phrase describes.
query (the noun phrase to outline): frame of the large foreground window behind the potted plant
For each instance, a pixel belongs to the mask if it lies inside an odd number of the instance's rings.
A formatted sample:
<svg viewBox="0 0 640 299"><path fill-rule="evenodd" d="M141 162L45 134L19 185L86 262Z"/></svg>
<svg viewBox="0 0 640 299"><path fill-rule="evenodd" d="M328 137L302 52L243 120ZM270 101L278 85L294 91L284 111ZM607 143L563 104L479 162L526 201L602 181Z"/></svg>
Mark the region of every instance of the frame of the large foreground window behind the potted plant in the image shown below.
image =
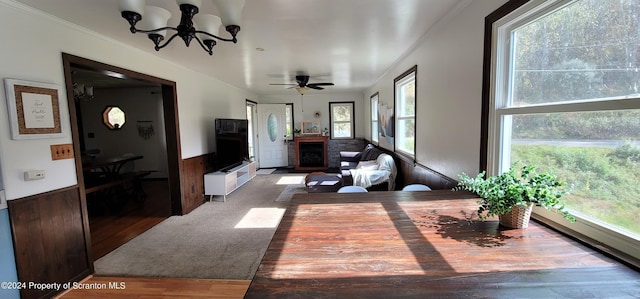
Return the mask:
<svg viewBox="0 0 640 299"><path fill-rule="evenodd" d="M510 152L510 116L558 112L593 112L640 109L640 98L609 98L601 100L546 103L508 107L510 82L512 29L535 20L540 16L568 5L574 0L517 0L509 1L485 18L484 66L482 90L482 123L480 170L488 175L507 169ZM579 1L579 0L578 0ZM598 220L576 216L576 223L568 224L561 216L535 208L532 218L563 233L590 244L607 248L615 257L635 264L640 263L640 241Z"/></svg>

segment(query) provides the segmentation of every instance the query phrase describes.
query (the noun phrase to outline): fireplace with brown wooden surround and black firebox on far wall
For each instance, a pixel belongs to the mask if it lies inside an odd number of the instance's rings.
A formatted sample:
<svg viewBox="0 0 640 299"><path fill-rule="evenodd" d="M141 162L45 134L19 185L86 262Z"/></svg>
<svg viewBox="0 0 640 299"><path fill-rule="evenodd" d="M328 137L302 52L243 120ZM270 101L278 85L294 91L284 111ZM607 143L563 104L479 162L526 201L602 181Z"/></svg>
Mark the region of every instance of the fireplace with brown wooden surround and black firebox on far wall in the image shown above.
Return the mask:
<svg viewBox="0 0 640 299"><path fill-rule="evenodd" d="M327 170L329 168L328 139L326 136L296 137L296 170Z"/></svg>

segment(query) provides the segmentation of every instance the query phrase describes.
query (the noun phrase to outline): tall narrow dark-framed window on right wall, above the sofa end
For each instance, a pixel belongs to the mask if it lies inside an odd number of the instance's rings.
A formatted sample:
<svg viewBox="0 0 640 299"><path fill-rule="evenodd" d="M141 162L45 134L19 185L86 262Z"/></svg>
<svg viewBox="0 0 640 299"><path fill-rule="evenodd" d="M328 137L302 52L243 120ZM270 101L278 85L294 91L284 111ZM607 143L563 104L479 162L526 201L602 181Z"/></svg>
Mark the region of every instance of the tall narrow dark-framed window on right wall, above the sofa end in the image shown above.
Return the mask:
<svg viewBox="0 0 640 299"><path fill-rule="evenodd" d="M416 144L416 73L414 66L395 81L396 151L414 157Z"/></svg>

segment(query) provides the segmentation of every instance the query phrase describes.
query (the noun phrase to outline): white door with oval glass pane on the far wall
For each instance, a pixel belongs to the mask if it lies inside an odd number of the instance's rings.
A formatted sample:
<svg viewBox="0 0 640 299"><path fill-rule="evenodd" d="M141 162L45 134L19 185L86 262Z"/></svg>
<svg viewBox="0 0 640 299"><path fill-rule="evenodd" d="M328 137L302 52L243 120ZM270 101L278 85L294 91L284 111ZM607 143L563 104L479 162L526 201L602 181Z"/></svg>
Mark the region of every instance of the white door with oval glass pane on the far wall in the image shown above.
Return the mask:
<svg viewBox="0 0 640 299"><path fill-rule="evenodd" d="M260 168L289 164L285 138L285 104L258 104Z"/></svg>

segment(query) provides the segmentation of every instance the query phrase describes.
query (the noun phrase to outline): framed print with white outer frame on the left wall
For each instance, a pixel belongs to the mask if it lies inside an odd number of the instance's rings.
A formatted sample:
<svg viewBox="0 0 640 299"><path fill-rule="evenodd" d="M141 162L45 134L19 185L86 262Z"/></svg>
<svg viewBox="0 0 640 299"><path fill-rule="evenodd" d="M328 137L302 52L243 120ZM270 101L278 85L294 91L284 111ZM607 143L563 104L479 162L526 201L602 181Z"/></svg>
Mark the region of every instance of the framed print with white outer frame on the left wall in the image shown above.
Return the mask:
<svg viewBox="0 0 640 299"><path fill-rule="evenodd" d="M16 79L5 79L4 83L12 139L64 136L60 122L60 86Z"/></svg>

